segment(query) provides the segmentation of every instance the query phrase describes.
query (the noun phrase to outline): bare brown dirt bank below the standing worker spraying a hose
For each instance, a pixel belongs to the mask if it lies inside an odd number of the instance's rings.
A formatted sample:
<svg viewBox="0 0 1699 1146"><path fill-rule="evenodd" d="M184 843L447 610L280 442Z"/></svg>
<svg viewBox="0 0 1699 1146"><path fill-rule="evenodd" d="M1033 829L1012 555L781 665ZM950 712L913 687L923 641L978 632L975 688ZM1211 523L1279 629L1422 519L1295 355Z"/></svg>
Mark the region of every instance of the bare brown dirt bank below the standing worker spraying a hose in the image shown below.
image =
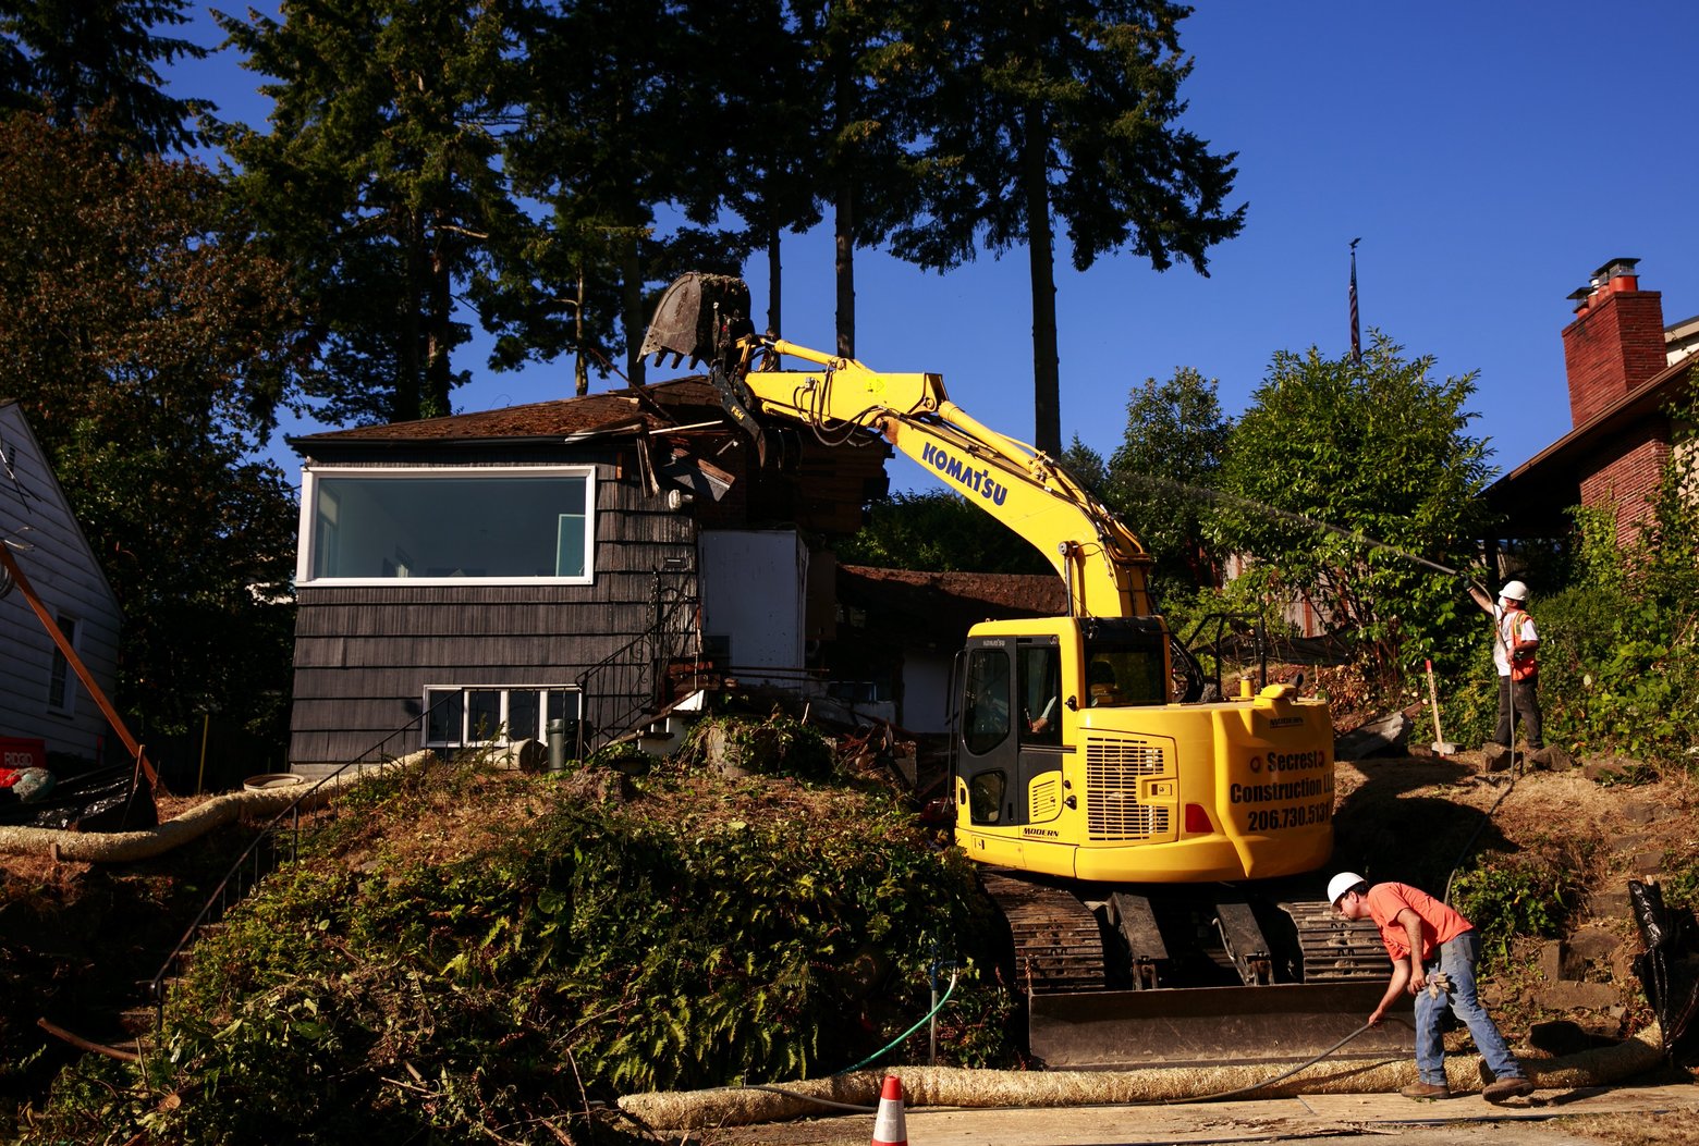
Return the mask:
<svg viewBox="0 0 1699 1146"><path fill-rule="evenodd" d="M1628 885L1655 881L1672 905L1692 903L1694 783L1629 783L1643 772L1597 761L1563 771L1529 767L1521 757L1502 772L1483 767L1480 752L1341 762L1335 864L1434 895L1480 881L1483 868L1509 873L1490 885L1493 902L1548 934L1505 935L1502 949L1488 952L1502 968L1487 986L1488 1003L1504 1025L1536 1044L1556 1042L1553 1053L1575 1037L1621 1037L1646 1025L1651 1014L1631 966L1641 942ZM1553 902L1514 902L1541 886L1556 888Z"/></svg>

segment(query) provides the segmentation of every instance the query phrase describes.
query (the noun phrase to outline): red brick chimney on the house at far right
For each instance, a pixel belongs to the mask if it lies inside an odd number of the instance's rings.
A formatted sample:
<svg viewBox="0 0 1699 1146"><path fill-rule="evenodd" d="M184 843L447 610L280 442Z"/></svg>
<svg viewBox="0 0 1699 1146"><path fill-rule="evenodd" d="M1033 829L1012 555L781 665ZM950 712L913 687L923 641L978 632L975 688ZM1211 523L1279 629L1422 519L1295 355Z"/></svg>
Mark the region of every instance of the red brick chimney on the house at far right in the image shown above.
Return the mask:
<svg viewBox="0 0 1699 1146"><path fill-rule="evenodd" d="M1667 365L1663 295L1641 290L1638 258L1612 258L1570 294L1575 321L1563 328L1570 421L1580 426Z"/></svg>

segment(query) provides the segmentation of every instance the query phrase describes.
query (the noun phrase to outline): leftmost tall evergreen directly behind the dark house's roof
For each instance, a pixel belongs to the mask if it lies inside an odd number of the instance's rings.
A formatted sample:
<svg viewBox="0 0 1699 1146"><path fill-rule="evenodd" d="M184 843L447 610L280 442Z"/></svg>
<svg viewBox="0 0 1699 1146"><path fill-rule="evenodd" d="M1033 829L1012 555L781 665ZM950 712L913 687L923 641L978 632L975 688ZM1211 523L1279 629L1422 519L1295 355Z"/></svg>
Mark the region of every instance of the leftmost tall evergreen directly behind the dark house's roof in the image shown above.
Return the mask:
<svg viewBox="0 0 1699 1146"><path fill-rule="evenodd" d="M510 7L476 0L297 0L277 22L221 15L275 109L229 127L265 244L296 268L328 421L452 413L452 353L527 224L501 163L513 124Z"/></svg>

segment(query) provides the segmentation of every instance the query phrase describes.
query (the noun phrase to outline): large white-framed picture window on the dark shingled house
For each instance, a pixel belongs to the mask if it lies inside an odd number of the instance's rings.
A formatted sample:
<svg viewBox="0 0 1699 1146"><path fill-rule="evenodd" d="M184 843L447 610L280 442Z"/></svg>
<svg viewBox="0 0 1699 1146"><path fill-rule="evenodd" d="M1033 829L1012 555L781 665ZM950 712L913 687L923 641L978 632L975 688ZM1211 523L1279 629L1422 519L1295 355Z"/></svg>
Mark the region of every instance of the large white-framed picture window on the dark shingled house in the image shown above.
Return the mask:
<svg viewBox="0 0 1699 1146"><path fill-rule="evenodd" d="M595 470L311 469L301 581L588 584Z"/></svg>

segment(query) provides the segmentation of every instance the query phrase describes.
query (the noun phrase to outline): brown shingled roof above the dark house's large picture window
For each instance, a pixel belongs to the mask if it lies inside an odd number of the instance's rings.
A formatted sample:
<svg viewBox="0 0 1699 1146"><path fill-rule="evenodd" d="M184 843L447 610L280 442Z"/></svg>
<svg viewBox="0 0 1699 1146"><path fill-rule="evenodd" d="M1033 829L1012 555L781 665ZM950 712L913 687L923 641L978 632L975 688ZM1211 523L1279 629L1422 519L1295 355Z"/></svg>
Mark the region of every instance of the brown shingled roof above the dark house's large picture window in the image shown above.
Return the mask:
<svg viewBox="0 0 1699 1146"><path fill-rule="evenodd" d="M675 430L700 423L725 423L719 394L707 379L676 379L505 409L328 430L292 436L287 441L297 453L311 453L318 447L336 445L562 440Z"/></svg>

